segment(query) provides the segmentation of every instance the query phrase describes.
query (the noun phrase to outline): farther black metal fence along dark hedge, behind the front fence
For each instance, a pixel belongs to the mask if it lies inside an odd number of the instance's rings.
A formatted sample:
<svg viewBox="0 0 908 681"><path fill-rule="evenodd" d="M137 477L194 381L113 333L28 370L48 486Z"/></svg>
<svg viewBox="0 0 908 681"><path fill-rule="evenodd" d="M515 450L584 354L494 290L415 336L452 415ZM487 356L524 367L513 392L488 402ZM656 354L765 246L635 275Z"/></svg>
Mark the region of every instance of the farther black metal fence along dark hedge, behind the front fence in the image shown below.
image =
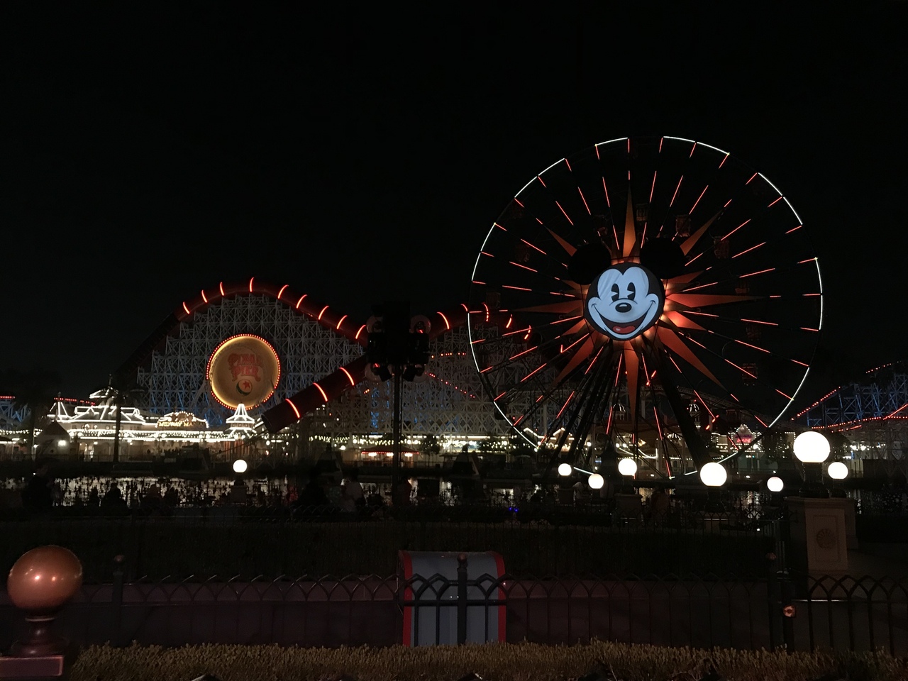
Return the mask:
<svg viewBox="0 0 908 681"><path fill-rule="evenodd" d="M413 509L383 516L269 515L238 508L168 517L0 520L0 580L30 548L71 548L89 581L109 581L126 557L129 581L188 575L388 575L397 551L494 548L514 575L708 574L766 577L763 557L784 563L785 522L747 512L685 511L676 517L507 508Z"/></svg>

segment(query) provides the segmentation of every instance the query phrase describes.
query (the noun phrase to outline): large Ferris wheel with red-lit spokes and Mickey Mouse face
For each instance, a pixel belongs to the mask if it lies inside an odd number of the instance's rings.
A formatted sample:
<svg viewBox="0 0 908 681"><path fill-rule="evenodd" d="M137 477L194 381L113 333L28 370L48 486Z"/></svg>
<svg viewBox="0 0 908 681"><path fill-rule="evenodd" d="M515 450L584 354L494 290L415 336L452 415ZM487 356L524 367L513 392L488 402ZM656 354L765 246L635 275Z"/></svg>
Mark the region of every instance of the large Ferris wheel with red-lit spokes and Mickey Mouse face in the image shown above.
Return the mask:
<svg viewBox="0 0 908 681"><path fill-rule="evenodd" d="M801 219L762 173L709 144L623 138L508 203L469 311L485 389L553 463L632 456L674 477L752 453L782 417L823 290Z"/></svg>

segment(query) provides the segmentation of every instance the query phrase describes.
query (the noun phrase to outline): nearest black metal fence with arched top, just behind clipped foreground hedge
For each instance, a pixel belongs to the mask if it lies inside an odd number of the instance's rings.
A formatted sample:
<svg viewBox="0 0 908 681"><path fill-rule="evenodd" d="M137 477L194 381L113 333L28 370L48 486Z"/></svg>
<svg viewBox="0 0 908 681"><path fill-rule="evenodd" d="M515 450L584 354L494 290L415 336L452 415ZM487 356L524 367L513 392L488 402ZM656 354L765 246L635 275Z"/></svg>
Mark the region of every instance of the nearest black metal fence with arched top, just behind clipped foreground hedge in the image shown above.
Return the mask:
<svg viewBox="0 0 908 681"><path fill-rule="evenodd" d="M716 577L300 577L86 586L58 617L79 644L575 644L853 650L908 655L904 580ZM420 624L421 622L421 624ZM428 622L428 626L426 623ZM24 634L0 592L0 648Z"/></svg>

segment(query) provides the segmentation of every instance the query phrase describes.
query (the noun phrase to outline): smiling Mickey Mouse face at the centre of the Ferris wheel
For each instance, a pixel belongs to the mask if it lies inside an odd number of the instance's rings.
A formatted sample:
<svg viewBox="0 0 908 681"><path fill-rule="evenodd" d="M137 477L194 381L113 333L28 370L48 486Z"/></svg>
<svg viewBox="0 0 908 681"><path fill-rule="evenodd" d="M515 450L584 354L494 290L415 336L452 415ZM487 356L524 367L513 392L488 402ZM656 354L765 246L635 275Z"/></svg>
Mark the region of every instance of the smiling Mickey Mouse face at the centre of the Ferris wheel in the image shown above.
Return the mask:
<svg viewBox="0 0 908 681"><path fill-rule="evenodd" d="M584 317L597 331L629 341L651 327L665 302L662 282L645 267L622 262L589 284Z"/></svg>

